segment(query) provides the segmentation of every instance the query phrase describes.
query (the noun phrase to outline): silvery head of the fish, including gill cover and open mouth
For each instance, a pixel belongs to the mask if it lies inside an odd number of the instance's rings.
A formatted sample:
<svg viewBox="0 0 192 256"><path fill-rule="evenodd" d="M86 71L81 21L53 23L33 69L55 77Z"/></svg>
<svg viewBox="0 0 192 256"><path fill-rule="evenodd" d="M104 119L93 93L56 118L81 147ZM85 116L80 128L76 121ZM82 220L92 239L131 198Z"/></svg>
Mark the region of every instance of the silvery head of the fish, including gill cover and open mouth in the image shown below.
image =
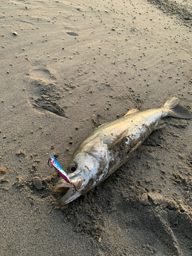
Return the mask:
<svg viewBox="0 0 192 256"><path fill-rule="evenodd" d="M105 177L108 167L108 146L101 139L78 147L67 168L71 184L60 178L55 186L55 191L66 193L59 204L68 204L86 194Z"/></svg>

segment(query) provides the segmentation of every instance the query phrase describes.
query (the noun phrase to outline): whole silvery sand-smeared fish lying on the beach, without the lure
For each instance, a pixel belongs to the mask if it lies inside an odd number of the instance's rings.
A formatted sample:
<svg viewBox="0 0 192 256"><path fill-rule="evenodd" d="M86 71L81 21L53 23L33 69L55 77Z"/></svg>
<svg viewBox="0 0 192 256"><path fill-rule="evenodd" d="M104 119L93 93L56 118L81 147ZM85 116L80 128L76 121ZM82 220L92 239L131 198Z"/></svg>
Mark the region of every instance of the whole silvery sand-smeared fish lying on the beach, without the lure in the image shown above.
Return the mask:
<svg viewBox="0 0 192 256"><path fill-rule="evenodd" d="M66 172L71 183L59 178L55 191L65 193L58 201L66 205L85 195L108 178L155 130L165 126L163 117L191 118L192 114L174 97L158 109L130 110L122 118L97 127L77 146Z"/></svg>

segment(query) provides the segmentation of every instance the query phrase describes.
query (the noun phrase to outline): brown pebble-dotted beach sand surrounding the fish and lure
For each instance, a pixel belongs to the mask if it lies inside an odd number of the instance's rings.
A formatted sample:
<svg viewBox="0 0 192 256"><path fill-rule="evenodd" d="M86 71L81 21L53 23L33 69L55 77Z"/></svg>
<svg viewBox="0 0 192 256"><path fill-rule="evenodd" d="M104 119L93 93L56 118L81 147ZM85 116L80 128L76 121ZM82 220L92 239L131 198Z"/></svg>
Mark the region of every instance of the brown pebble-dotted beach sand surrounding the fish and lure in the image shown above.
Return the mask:
<svg viewBox="0 0 192 256"><path fill-rule="evenodd" d="M191 2L0 5L0 255L192 255L191 120L165 118L62 208L47 164L58 154L65 167L84 136L129 109L175 96L192 110Z"/></svg>

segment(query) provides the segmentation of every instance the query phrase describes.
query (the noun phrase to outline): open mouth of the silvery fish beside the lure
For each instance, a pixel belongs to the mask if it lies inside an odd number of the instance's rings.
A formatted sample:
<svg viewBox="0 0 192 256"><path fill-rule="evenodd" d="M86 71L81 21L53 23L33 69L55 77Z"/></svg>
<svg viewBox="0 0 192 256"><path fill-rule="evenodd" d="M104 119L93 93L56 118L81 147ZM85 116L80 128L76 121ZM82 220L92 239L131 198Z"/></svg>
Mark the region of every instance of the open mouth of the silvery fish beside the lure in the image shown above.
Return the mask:
<svg viewBox="0 0 192 256"><path fill-rule="evenodd" d="M76 177L71 179L72 184L67 183L62 178L58 180L54 190L59 193L65 193L58 201L60 206L72 202L81 195L79 189L81 188L83 180L82 177Z"/></svg>

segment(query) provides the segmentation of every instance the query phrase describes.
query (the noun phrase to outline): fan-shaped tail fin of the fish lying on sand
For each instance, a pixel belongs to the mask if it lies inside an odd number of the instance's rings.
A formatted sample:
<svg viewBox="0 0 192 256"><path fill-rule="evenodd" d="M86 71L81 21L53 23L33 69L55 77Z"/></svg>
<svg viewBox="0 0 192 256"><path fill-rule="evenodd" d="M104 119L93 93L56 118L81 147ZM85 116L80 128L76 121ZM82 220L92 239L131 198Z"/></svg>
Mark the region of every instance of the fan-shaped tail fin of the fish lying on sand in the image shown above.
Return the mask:
<svg viewBox="0 0 192 256"><path fill-rule="evenodd" d="M184 106L180 104L178 98L174 97L169 99L163 105L163 108L167 110L167 116L173 116L178 118L191 118L192 114L189 110L187 110Z"/></svg>

